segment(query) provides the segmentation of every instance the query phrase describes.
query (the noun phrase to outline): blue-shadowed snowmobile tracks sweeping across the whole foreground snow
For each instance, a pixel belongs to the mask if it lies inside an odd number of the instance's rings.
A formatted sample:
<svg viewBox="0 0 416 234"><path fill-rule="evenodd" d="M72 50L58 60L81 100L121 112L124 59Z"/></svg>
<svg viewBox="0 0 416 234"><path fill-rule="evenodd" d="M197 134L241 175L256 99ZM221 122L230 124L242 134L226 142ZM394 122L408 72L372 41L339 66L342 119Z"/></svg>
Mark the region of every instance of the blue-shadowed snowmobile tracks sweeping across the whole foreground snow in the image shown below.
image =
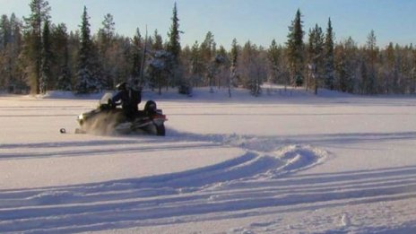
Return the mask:
<svg viewBox="0 0 416 234"><path fill-rule="evenodd" d="M238 142L241 144L241 140ZM327 157L327 152L308 145L274 150L269 145L267 152L246 149L236 158L177 173L1 190L0 231L68 233L146 227L169 224L172 218L176 223L195 221L195 217L197 221L215 221L416 195L414 167L288 176ZM266 207L266 211L251 212ZM251 229L264 227L278 228L270 222L255 223Z"/></svg>

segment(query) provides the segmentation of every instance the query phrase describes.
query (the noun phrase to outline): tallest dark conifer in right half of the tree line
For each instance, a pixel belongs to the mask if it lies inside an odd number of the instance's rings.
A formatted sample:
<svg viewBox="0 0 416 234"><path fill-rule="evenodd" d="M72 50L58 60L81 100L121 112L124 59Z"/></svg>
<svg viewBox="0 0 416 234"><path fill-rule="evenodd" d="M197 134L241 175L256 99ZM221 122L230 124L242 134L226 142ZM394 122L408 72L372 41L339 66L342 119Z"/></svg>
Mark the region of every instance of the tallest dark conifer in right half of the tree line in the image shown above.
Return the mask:
<svg viewBox="0 0 416 234"><path fill-rule="evenodd" d="M300 10L298 9L295 20L291 22L289 27L288 41L286 43L288 47L288 59L290 66L291 84L301 86L304 79L304 44L302 21Z"/></svg>

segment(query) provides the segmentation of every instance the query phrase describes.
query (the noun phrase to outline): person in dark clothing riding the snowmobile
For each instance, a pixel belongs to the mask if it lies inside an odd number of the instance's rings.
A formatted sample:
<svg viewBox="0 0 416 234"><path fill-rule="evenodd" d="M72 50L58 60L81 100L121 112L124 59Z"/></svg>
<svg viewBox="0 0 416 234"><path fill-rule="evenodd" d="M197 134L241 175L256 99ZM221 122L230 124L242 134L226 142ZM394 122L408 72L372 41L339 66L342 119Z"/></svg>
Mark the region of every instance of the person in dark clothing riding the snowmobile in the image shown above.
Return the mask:
<svg viewBox="0 0 416 234"><path fill-rule="evenodd" d="M134 85L127 87L127 82L120 82L117 84L117 93L111 99L111 104L116 107L121 104L126 117L134 119L139 112L139 103L142 101L142 90L137 86L137 81Z"/></svg>

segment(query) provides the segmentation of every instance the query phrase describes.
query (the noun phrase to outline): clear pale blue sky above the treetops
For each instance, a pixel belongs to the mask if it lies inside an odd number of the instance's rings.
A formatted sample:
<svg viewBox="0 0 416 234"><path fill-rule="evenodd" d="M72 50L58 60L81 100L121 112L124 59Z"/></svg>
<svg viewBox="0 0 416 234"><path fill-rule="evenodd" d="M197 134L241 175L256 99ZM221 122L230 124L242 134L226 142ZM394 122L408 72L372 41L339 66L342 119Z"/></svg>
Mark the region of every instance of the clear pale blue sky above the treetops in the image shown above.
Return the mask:
<svg viewBox="0 0 416 234"><path fill-rule="evenodd" d="M139 28L144 35L147 25L150 35L158 30L163 39L168 38L175 2L183 47L203 41L208 31L225 48L234 38L241 45L250 40L265 48L273 39L284 44L298 9L306 35L316 24L325 30L331 18L335 41L351 37L363 45L374 30L382 48L389 42L416 43L414 0L48 0L52 22L64 22L68 30L79 30L85 5L93 33L111 13L118 34L132 37ZM29 4L30 0L0 0L0 13L22 19L30 14Z"/></svg>

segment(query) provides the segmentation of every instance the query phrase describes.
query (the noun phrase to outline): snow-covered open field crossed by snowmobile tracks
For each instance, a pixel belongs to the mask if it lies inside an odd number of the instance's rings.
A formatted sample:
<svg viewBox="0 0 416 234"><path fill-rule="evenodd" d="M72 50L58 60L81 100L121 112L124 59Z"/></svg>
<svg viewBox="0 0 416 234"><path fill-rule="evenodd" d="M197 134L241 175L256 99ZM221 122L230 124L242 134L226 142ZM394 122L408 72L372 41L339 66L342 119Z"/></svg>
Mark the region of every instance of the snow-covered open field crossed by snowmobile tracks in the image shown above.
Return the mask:
<svg viewBox="0 0 416 234"><path fill-rule="evenodd" d="M0 95L0 232L416 233L416 97L148 99L165 137L74 134L92 98Z"/></svg>

